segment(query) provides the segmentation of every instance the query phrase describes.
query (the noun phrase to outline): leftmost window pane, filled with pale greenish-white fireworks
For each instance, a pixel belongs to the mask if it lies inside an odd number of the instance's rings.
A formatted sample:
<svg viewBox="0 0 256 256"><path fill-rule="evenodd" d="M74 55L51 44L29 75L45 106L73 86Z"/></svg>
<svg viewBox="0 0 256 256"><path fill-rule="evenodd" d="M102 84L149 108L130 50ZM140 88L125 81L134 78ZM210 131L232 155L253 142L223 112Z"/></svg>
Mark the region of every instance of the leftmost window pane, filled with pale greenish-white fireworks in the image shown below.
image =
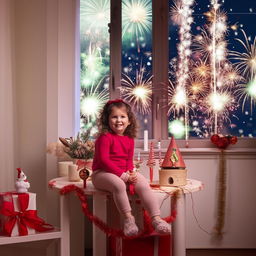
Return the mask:
<svg viewBox="0 0 256 256"><path fill-rule="evenodd" d="M109 98L109 0L80 1L81 129L95 124Z"/></svg>

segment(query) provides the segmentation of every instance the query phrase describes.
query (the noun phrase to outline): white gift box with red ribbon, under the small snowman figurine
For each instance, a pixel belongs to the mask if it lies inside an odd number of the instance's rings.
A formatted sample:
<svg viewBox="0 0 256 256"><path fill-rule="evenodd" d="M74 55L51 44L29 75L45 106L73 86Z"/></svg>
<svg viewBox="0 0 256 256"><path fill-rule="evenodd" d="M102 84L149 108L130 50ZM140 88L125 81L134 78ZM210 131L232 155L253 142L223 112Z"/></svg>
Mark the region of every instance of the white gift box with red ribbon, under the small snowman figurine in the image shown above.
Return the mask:
<svg viewBox="0 0 256 256"><path fill-rule="evenodd" d="M26 236L52 230L37 216L35 193L0 194L0 232L6 236Z"/></svg>

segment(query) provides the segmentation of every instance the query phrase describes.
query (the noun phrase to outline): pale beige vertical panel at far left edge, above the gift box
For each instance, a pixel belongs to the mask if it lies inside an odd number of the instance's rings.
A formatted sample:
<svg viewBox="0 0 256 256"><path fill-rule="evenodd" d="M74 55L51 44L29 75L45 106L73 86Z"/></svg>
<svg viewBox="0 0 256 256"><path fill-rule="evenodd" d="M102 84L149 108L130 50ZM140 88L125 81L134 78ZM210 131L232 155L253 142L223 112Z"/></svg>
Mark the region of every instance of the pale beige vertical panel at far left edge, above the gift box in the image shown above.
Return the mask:
<svg viewBox="0 0 256 256"><path fill-rule="evenodd" d="M0 191L14 186L12 1L0 1Z"/></svg>

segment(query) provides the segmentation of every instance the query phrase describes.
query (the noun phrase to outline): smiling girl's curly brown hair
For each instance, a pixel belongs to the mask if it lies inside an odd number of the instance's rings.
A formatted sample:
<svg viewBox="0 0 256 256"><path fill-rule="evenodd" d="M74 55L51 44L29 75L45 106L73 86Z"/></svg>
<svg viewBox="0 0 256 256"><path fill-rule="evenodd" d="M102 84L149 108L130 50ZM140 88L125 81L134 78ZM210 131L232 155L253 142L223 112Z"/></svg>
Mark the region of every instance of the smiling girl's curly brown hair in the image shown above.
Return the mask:
<svg viewBox="0 0 256 256"><path fill-rule="evenodd" d="M107 132L113 133L113 131L109 127L109 120L108 120L113 107L126 108L130 124L125 129L124 135L129 136L131 138L135 138L137 135L137 130L138 130L138 125L137 125L135 115L132 112L131 106L121 99L120 100L119 99L118 100L110 100L103 107L103 110L101 111L100 116L97 121L98 128L99 128L98 135L101 135L101 134L104 134Z"/></svg>

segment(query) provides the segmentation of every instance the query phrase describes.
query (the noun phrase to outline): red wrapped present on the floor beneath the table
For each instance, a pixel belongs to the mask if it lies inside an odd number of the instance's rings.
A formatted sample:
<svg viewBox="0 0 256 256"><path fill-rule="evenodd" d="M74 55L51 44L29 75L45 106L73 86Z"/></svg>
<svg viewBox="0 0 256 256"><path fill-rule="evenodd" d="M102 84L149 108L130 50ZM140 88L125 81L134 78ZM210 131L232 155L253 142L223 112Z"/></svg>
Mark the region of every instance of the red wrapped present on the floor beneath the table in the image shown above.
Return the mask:
<svg viewBox="0 0 256 256"><path fill-rule="evenodd" d="M166 256L171 254L171 236L144 236L135 239L109 237L108 256Z"/></svg>

